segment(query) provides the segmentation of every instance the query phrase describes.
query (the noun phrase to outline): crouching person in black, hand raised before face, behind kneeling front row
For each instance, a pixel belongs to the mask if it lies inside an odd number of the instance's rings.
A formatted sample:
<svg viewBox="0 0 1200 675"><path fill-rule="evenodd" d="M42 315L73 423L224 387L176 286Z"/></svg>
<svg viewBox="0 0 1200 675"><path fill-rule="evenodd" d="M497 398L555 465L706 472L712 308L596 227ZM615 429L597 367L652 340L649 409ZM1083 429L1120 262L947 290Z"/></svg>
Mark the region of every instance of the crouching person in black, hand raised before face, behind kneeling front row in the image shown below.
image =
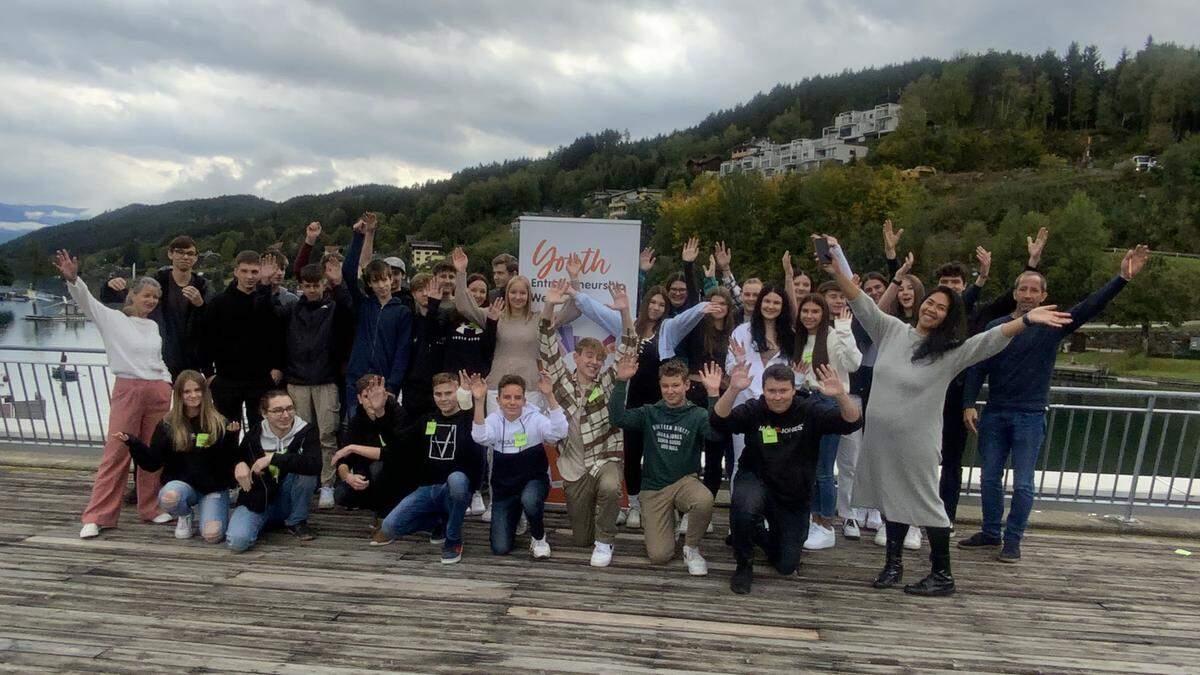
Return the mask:
<svg viewBox="0 0 1200 675"><path fill-rule="evenodd" d="M346 426L342 448L330 458L334 474L334 503L346 508L368 508L376 514L371 543L390 544L378 521L391 513L400 500L416 486L412 478L415 462L392 450L404 447L404 412L388 394L382 375L367 374L354 383L358 406ZM337 459L332 459L336 456Z"/></svg>

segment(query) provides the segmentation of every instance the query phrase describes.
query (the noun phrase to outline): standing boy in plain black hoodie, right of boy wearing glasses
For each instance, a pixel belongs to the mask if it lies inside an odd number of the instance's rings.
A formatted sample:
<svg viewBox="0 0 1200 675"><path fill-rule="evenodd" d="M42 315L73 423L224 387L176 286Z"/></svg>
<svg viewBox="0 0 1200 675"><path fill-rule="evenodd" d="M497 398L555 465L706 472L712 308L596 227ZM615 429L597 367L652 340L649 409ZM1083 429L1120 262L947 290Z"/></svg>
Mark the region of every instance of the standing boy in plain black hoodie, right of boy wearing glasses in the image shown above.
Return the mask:
<svg viewBox="0 0 1200 675"><path fill-rule="evenodd" d="M200 356L205 372L215 372L212 401L233 422L246 406L246 428L263 422L258 402L283 381L283 330L271 298L258 289L262 258L254 251L238 253L234 280L224 293L208 303L200 322Z"/></svg>

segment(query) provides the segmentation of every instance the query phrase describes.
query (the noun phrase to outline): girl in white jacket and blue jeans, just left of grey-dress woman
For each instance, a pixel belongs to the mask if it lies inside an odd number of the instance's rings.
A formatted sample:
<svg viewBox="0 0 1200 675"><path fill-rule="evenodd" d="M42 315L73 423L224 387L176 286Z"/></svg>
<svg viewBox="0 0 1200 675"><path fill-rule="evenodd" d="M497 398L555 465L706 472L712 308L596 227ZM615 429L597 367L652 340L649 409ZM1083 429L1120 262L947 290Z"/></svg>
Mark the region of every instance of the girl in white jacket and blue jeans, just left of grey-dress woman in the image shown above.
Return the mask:
<svg viewBox="0 0 1200 675"><path fill-rule="evenodd" d="M793 364L797 375L803 377L806 388L824 395L817 369L828 365L836 374L842 390L850 390L850 374L863 363L863 353L858 351L850 329L850 312L844 306L841 315L834 318L824 297L817 293L804 295L799 304L796 321L798 359ZM838 483L833 476L833 466L840 440L841 436L832 434L821 437L816 489L812 491L810 507L812 525L804 540L804 548L809 550L828 549L835 543L833 516L838 507Z"/></svg>

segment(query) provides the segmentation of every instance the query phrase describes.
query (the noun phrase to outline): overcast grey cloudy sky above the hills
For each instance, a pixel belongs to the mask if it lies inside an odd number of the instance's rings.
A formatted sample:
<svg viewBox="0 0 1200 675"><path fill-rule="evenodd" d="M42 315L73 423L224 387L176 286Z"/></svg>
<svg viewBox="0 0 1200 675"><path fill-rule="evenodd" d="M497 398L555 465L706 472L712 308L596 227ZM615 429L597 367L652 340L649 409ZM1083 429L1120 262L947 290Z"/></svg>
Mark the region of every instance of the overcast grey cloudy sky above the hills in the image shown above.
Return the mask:
<svg viewBox="0 0 1200 675"><path fill-rule="evenodd" d="M778 82L988 48L1189 42L1200 2L7 0L0 202L407 185ZM1189 29L1190 26L1190 29Z"/></svg>

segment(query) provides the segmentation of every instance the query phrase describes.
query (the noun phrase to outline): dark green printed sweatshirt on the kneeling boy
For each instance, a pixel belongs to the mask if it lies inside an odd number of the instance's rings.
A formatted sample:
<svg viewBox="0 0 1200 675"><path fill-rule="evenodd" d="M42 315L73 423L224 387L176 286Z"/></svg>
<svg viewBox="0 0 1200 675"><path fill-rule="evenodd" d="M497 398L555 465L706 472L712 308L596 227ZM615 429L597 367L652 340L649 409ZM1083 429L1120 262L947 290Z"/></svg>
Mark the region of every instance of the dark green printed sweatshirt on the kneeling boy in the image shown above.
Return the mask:
<svg viewBox="0 0 1200 675"><path fill-rule="evenodd" d="M642 489L661 490L700 471L704 438L718 440L708 425L708 411L688 401L672 408L662 401L625 408L629 382L617 382L608 396L608 419L614 426L642 431ZM709 399L712 407L716 399Z"/></svg>

